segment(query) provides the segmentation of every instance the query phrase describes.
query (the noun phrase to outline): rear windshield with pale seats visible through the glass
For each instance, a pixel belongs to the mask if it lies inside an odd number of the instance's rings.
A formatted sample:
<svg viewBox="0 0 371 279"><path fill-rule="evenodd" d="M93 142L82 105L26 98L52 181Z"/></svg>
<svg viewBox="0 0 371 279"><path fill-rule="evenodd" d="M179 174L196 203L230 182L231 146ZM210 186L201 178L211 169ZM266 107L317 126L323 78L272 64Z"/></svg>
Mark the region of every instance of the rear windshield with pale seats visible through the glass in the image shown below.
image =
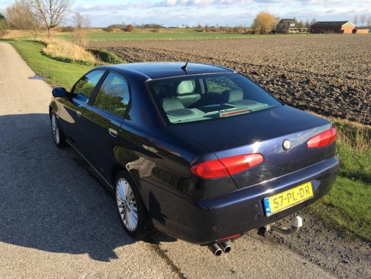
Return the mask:
<svg viewBox="0 0 371 279"><path fill-rule="evenodd" d="M148 87L171 123L234 117L281 105L256 83L237 73L157 79Z"/></svg>

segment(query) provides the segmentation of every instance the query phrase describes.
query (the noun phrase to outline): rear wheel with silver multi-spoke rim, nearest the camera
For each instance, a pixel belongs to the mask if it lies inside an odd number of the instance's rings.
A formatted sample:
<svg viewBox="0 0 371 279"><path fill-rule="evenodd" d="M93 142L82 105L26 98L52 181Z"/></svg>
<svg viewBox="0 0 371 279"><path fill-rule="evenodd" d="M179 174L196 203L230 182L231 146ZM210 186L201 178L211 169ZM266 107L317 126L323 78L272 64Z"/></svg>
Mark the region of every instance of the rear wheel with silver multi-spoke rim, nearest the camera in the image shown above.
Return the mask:
<svg viewBox="0 0 371 279"><path fill-rule="evenodd" d="M126 171L120 171L116 176L115 197L119 217L127 234L135 240L149 237L152 222L134 180Z"/></svg>

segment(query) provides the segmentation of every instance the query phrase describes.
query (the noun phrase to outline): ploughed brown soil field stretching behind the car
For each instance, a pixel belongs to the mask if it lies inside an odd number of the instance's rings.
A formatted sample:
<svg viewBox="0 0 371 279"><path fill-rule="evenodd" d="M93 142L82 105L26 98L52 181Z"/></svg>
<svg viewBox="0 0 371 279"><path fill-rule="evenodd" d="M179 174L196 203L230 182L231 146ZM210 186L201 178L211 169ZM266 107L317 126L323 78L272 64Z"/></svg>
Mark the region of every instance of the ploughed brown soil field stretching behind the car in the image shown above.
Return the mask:
<svg viewBox="0 0 371 279"><path fill-rule="evenodd" d="M371 36L90 42L129 62L199 61L226 66L283 102L371 124Z"/></svg>

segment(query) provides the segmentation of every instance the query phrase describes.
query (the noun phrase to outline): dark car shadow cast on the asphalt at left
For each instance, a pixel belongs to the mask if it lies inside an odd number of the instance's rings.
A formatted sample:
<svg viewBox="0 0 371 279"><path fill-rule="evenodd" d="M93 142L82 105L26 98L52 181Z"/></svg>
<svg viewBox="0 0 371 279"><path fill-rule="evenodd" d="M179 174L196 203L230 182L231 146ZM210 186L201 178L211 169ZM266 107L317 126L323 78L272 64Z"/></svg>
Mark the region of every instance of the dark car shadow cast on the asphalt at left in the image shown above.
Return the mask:
<svg viewBox="0 0 371 279"><path fill-rule="evenodd" d="M109 186L73 148L54 145L48 114L0 116L0 131L0 241L104 262L133 244Z"/></svg>

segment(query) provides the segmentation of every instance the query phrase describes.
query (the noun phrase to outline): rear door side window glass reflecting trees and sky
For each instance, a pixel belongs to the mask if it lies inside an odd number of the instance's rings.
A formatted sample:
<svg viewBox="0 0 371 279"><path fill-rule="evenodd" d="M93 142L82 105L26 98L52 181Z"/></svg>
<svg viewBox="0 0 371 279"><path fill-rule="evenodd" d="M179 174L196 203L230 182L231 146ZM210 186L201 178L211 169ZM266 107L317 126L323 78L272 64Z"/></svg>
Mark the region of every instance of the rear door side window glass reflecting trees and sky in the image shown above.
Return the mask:
<svg viewBox="0 0 371 279"><path fill-rule="evenodd" d="M129 85L126 78L109 73L97 93L94 106L124 116L129 100Z"/></svg>

